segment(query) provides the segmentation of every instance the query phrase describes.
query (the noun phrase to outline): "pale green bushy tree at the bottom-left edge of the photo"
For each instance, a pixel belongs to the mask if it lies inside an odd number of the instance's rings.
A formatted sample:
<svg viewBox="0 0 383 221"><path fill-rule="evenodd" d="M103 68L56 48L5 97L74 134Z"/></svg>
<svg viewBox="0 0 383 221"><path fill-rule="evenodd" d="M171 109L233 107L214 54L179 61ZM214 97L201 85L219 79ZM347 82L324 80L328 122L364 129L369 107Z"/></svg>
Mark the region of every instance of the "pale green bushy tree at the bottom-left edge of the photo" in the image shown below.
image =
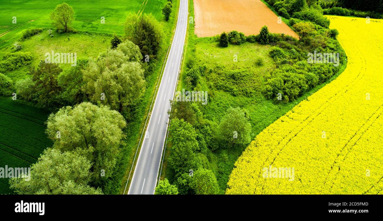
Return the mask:
<svg viewBox="0 0 383 221"><path fill-rule="evenodd" d="M10 179L18 194L102 194L88 185L90 162L75 152L49 148L31 166L30 177Z"/></svg>

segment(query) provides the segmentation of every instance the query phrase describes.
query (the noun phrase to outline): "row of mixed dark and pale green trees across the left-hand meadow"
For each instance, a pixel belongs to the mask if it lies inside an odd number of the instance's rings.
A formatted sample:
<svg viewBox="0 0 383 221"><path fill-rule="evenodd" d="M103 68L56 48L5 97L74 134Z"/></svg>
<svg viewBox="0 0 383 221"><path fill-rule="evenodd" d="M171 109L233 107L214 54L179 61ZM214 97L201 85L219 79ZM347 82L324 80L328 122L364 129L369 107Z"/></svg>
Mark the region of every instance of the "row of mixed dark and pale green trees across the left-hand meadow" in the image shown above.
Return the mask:
<svg viewBox="0 0 383 221"><path fill-rule="evenodd" d="M31 71L32 78L16 83L16 94L52 110L90 101L123 113L145 90L141 60L139 48L125 41L97 59L79 59L64 71L56 63L41 61Z"/></svg>

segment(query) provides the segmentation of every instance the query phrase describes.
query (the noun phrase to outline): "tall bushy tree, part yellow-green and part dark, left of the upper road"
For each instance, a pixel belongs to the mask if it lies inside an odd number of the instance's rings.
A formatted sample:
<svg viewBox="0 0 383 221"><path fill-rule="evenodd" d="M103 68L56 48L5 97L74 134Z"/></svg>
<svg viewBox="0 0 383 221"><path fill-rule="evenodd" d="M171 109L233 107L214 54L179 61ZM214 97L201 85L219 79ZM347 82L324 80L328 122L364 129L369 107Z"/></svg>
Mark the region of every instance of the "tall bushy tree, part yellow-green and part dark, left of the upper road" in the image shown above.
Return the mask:
<svg viewBox="0 0 383 221"><path fill-rule="evenodd" d="M162 42L161 25L153 15L130 14L125 22L125 35L141 50L142 56L155 58Z"/></svg>

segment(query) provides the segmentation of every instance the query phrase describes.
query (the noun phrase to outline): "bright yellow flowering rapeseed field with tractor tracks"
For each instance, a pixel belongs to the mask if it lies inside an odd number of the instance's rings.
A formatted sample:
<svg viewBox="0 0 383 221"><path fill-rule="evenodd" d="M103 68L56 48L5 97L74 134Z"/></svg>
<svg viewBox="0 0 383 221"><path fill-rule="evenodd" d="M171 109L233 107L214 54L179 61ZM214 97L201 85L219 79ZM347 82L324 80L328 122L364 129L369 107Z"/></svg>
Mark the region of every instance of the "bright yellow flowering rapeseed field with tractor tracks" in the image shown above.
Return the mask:
<svg viewBox="0 0 383 221"><path fill-rule="evenodd" d="M383 193L383 20L328 17L347 68L252 141L227 194Z"/></svg>

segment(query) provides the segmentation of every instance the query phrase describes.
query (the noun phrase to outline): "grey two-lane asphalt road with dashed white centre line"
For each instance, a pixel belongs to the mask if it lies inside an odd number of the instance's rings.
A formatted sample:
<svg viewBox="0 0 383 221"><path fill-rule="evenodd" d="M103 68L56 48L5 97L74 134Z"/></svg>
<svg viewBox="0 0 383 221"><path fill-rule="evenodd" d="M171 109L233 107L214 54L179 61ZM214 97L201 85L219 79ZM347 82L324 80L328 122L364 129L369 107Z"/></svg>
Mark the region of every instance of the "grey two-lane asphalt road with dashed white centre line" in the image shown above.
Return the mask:
<svg viewBox="0 0 383 221"><path fill-rule="evenodd" d="M173 99L177 84L187 22L188 0L180 0L177 28L128 194L154 194L169 120L169 100Z"/></svg>

